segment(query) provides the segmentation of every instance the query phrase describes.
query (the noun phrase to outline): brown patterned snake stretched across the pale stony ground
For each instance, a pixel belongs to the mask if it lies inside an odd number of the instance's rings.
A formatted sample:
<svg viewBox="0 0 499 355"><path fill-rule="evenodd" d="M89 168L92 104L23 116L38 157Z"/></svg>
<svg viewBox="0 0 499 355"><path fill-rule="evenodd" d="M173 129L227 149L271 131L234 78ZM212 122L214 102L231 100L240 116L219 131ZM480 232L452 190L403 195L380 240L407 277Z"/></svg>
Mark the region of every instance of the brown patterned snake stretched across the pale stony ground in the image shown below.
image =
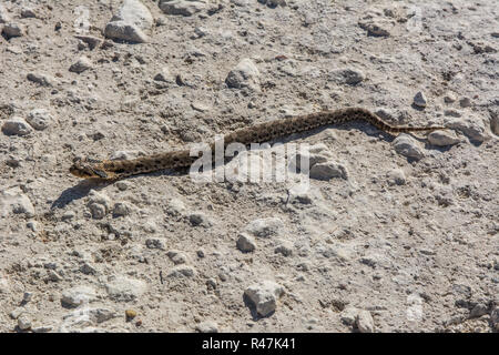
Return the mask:
<svg viewBox="0 0 499 355"><path fill-rule="evenodd" d="M444 130L444 126L393 126L375 113L361 108L346 108L334 111L320 111L275 120L244 128L224 135L224 145L238 142L242 144L263 143L292 133L309 131L319 126L360 120L368 122L387 133L408 133L419 131ZM210 148L214 151L215 143ZM131 160L93 160L77 159L70 172L82 179L119 180L130 175L154 172L164 169L190 166L197 156L190 156L190 150L174 150L164 153L141 156Z"/></svg>

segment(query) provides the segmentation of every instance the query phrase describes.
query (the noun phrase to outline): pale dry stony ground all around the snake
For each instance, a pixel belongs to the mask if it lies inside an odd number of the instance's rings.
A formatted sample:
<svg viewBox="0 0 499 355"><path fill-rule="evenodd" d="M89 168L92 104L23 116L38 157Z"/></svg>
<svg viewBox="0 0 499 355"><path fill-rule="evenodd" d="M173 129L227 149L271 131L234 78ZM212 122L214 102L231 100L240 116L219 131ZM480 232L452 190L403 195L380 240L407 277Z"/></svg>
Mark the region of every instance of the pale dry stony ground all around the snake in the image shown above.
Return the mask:
<svg viewBox="0 0 499 355"><path fill-rule="evenodd" d="M498 19L485 0L1 1L0 331L497 332ZM345 106L449 130L293 134L308 190L69 173Z"/></svg>

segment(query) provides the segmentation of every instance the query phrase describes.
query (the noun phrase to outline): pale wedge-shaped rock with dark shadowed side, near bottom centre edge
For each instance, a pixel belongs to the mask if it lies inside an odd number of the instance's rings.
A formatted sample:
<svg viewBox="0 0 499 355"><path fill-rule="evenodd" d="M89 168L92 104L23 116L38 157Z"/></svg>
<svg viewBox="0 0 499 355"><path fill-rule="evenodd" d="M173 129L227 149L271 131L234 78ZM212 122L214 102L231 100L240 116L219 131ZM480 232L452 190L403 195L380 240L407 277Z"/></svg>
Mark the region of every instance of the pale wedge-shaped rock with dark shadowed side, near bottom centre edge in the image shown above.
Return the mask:
<svg viewBox="0 0 499 355"><path fill-rule="evenodd" d="M253 302L256 312L266 317L275 312L277 298L284 294L284 288L273 281L263 281L246 288L244 295Z"/></svg>

